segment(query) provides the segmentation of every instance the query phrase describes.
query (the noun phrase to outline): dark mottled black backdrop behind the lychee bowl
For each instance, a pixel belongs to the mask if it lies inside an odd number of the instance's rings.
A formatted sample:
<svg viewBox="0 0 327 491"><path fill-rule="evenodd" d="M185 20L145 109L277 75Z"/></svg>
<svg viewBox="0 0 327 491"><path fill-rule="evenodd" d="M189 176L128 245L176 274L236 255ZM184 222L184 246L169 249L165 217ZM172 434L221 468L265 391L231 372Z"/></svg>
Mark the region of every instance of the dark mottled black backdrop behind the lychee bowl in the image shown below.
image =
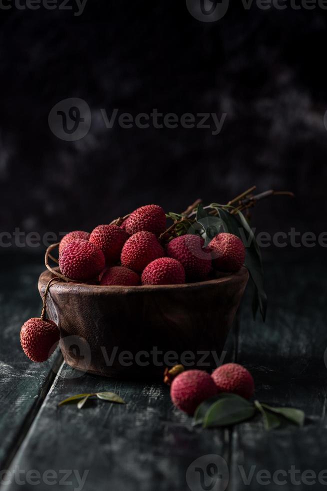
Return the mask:
<svg viewBox="0 0 327 491"><path fill-rule="evenodd" d="M261 202L259 230L323 229L327 11L245 11L239 0L202 23L184 1L88 0L80 17L0 14L1 230L91 230L143 204L181 211L251 185L296 194ZM92 111L76 142L56 138L47 119L70 97ZM108 130L100 108L227 116L217 136Z"/></svg>

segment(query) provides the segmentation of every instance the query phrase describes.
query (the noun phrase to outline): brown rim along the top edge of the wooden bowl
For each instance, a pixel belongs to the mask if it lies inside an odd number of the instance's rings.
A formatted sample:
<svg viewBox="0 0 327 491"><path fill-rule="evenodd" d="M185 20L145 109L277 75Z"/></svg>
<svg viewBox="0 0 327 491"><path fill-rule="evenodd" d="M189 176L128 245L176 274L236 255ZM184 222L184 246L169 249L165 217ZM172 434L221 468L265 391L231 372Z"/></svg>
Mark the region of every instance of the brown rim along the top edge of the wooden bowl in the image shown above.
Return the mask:
<svg viewBox="0 0 327 491"><path fill-rule="evenodd" d="M236 273L221 273L221 277L215 278L213 280L207 280L203 282L196 282L196 283L184 283L182 285L138 285L135 287L127 287L127 286L120 286L120 285L109 285L109 286L102 286L102 285L86 285L85 283L69 283L69 282L53 282L50 289L55 288L58 291L66 291L69 293L72 292L78 292L79 294L82 292L84 294L89 294L92 295L95 292L98 294L100 292L105 293L105 294L110 294L110 293L135 293L135 292L158 292L158 291L171 291L171 290L189 290L189 289L198 289L198 288L205 288L205 287L212 287L215 286L219 283L226 283L226 282L242 282L244 281L245 277L248 277L248 272L247 269L243 266L239 271ZM53 277L49 271L45 270L43 273L41 273L39 277L39 284L46 286L47 282ZM247 280L246 280L247 281Z"/></svg>

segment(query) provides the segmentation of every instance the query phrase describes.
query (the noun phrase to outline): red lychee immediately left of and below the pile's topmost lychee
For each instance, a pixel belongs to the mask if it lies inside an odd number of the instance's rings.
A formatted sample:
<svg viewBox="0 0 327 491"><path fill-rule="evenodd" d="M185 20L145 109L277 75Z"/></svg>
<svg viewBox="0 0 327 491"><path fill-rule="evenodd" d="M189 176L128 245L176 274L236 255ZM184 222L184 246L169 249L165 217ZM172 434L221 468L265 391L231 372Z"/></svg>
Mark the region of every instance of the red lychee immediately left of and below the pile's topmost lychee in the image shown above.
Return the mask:
<svg viewBox="0 0 327 491"><path fill-rule="evenodd" d="M89 241L101 249L106 263L110 265L119 261L122 246L128 237L128 233L117 225L98 225L91 232Z"/></svg>

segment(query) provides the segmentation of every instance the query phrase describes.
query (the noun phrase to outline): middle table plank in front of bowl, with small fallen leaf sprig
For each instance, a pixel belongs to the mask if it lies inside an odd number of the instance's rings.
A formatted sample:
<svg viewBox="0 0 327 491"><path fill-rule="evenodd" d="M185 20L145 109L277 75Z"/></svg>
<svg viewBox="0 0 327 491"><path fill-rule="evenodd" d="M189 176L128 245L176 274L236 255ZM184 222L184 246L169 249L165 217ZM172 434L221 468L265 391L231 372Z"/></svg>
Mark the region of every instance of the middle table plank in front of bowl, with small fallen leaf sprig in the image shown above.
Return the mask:
<svg viewBox="0 0 327 491"><path fill-rule="evenodd" d="M11 470L72 471L71 488L85 475L85 489L187 489L186 471L207 454L228 458L228 432L205 432L174 409L163 384L115 381L92 375L74 377L64 365L47 395ZM92 401L58 407L65 397L88 391L114 391L126 405ZM207 462L204 457L204 467ZM77 474L78 473L78 474ZM77 478L76 478L77 475ZM81 479L82 480L82 479ZM12 480L7 487L19 489ZM33 489L46 489L44 482Z"/></svg>

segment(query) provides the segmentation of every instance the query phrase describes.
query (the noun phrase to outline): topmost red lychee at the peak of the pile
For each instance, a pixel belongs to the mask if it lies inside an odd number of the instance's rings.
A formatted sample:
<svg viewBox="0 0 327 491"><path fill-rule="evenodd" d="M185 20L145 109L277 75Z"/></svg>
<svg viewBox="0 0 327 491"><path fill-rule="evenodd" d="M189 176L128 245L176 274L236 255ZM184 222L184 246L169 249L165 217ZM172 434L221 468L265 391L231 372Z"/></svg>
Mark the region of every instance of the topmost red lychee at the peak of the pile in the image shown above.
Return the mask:
<svg viewBox="0 0 327 491"><path fill-rule="evenodd" d="M146 230L159 236L166 228L165 212L157 204L141 206L124 221L124 228L130 234Z"/></svg>

